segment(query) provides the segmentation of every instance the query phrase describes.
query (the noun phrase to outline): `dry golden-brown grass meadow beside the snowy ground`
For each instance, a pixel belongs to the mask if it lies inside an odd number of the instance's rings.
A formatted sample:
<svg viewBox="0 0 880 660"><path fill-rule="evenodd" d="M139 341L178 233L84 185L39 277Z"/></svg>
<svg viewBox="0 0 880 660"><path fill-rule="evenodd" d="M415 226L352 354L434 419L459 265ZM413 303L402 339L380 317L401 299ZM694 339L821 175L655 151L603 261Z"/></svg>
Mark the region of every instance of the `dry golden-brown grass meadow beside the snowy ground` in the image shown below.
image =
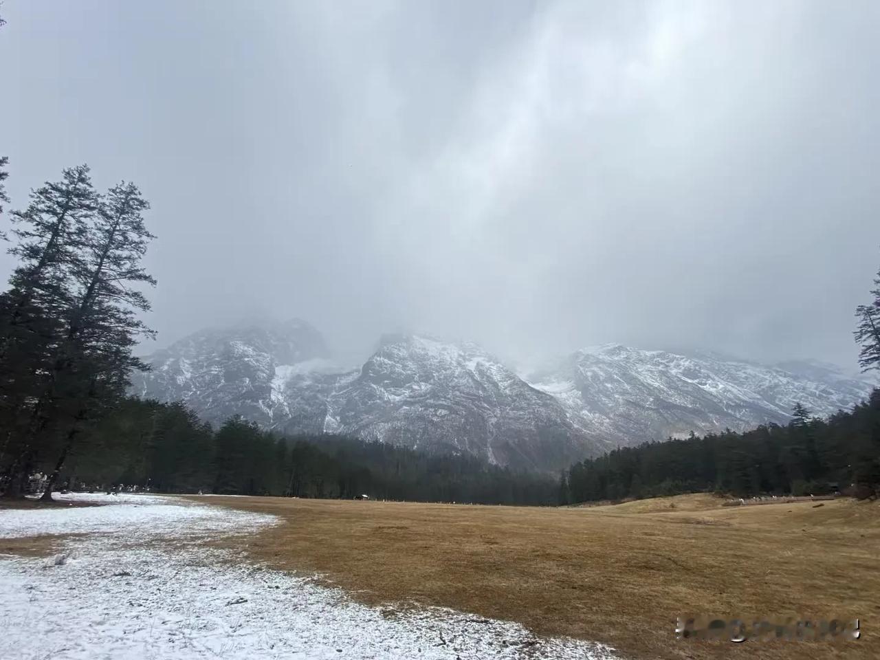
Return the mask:
<svg viewBox="0 0 880 660"><path fill-rule="evenodd" d="M374 604L449 606L634 658L880 657L880 502L721 508L710 495L538 509L199 497L274 513L247 539ZM679 614L860 618L856 642L694 642Z"/></svg>

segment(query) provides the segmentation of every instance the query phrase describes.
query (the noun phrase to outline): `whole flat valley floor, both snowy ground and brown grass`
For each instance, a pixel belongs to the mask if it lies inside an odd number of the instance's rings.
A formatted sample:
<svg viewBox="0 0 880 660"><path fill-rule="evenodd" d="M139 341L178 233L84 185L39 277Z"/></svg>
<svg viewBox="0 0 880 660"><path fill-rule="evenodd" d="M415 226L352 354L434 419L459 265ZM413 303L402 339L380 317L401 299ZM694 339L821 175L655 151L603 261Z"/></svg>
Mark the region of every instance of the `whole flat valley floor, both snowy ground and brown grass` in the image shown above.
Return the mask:
<svg viewBox="0 0 880 660"><path fill-rule="evenodd" d="M880 502L59 499L0 510L4 660L880 656ZM677 640L699 613L862 639Z"/></svg>

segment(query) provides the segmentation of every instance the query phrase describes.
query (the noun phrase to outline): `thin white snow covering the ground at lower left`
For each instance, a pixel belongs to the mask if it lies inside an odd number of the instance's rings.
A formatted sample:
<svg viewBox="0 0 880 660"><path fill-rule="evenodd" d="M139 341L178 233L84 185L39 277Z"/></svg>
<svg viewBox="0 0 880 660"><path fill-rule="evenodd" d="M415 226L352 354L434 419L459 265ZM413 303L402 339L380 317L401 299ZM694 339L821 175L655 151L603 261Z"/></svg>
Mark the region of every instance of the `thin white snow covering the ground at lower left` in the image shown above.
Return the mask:
<svg viewBox="0 0 880 660"><path fill-rule="evenodd" d="M0 510L0 539L87 534L66 542L70 559L61 564L0 554L4 660L616 657L516 623L360 605L197 542L254 532L275 524L272 516L152 495L73 497L114 503Z"/></svg>

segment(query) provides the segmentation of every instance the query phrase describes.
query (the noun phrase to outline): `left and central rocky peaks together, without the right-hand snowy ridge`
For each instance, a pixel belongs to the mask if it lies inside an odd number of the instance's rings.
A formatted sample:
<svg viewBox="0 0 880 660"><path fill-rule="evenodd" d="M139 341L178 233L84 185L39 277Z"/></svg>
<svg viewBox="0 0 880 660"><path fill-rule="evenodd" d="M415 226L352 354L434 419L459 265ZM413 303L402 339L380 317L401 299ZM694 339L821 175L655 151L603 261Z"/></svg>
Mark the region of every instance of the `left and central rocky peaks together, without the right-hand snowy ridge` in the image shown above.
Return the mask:
<svg viewBox="0 0 880 660"><path fill-rule="evenodd" d="M148 358L136 393L183 400L215 424L233 414L285 433L340 433L557 469L605 447L560 402L474 344L389 335L360 370L327 370L312 326L194 334Z"/></svg>

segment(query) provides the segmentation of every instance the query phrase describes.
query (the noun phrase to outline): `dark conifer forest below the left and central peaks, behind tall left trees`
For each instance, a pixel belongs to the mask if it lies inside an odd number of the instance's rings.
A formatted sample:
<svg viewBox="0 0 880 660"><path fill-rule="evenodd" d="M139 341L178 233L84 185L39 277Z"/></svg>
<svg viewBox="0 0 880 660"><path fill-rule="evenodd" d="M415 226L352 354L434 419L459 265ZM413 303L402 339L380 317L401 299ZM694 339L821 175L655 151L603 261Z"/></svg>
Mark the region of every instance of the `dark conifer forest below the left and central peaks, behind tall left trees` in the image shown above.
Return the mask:
<svg viewBox="0 0 880 660"><path fill-rule="evenodd" d="M87 433L62 475L86 488L414 502L554 504L552 478L345 436L281 436L235 417L219 429L181 403L126 399Z"/></svg>

